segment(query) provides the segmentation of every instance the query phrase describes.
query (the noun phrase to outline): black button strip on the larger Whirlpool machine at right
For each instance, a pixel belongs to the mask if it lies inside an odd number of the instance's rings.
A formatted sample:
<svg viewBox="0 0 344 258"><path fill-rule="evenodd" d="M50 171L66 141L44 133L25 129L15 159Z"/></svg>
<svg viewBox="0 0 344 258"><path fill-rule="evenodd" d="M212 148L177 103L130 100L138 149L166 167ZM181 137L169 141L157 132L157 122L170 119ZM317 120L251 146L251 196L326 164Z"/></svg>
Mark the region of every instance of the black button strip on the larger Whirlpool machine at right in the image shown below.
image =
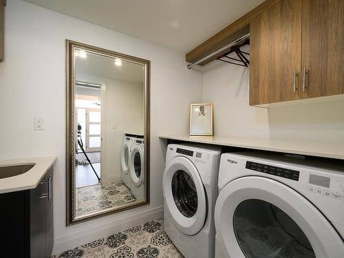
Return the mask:
<svg viewBox="0 0 344 258"><path fill-rule="evenodd" d="M278 166L270 166L252 161L246 162L246 169L266 173L269 175L277 175L281 178L288 178L290 180L299 181L300 171L292 169L284 169Z"/></svg>

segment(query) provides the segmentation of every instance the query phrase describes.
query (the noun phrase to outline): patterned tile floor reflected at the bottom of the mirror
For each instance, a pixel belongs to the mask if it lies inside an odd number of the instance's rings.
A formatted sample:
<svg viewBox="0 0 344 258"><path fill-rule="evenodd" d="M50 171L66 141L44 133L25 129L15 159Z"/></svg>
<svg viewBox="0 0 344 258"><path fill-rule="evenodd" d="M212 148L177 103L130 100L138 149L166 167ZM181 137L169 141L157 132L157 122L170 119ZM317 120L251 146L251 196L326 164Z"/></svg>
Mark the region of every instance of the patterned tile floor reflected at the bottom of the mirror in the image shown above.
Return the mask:
<svg viewBox="0 0 344 258"><path fill-rule="evenodd" d="M76 216L135 201L130 189L122 181L80 187L76 189Z"/></svg>

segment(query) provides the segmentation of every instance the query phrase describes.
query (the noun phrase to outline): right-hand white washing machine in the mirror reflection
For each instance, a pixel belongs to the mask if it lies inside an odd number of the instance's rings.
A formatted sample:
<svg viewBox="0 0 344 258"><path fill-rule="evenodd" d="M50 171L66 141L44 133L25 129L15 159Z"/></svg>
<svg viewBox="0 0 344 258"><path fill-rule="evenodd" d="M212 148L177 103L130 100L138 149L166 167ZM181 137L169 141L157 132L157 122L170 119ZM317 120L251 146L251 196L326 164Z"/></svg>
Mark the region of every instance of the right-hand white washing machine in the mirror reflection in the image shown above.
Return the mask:
<svg viewBox="0 0 344 258"><path fill-rule="evenodd" d="M136 200L144 199L144 139L135 138L129 159L131 193Z"/></svg>

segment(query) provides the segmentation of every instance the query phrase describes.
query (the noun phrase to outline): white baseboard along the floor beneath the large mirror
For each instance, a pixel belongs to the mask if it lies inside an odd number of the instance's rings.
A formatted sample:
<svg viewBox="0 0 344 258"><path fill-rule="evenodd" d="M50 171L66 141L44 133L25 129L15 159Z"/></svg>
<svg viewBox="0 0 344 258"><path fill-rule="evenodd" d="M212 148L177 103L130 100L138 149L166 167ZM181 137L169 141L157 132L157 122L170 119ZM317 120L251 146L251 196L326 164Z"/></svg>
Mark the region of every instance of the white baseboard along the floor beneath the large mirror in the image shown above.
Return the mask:
<svg viewBox="0 0 344 258"><path fill-rule="evenodd" d="M63 237L57 237L54 239L54 248L52 250L53 254L58 254L66 250L87 244L96 239L102 237L108 237L114 233L149 222L157 217L162 217L164 215L164 207L159 206L157 208L151 208L147 211L138 212L129 217L120 217L119 219L114 219L111 222L105 224L96 225L87 230L80 230L76 233L65 235Z"/></svg>

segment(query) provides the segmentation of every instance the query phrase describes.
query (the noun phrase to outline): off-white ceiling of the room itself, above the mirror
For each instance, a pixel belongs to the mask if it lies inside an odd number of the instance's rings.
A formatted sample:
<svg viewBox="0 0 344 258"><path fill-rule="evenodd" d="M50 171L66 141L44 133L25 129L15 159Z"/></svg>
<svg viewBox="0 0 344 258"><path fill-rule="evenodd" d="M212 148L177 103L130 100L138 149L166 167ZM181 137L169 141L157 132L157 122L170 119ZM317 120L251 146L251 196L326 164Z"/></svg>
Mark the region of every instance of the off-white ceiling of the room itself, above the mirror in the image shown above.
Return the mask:
<svg viewBox="0 0 344 258"><path fill-rule="evenodd" d="M263 0L24 1L184 53L263 2Z"/></svg>

